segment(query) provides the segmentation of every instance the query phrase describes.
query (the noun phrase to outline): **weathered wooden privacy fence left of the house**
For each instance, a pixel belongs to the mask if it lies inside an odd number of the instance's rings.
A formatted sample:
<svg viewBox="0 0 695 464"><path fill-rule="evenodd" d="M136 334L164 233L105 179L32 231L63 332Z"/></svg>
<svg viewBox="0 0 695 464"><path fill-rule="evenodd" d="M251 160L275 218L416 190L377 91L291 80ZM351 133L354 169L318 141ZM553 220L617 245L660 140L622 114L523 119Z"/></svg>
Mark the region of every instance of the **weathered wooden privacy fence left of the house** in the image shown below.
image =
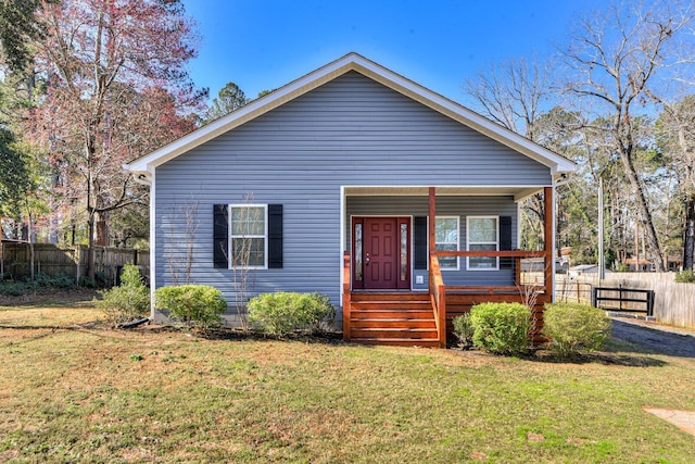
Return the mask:
<svg viewBox="0 0 695 464"><path fill-rule="evenodd" d="M97 247L94 271L101 273L106 283L116 284L119 271L125 264L140 266L141 274L149 275L150 252L122 248ZM70 276L79 281L87 274L87 247L60 248L51 243L34 244L35 274ZM3 278L24 279L30 273L28 243L0 242L0 275Z"/></svg>

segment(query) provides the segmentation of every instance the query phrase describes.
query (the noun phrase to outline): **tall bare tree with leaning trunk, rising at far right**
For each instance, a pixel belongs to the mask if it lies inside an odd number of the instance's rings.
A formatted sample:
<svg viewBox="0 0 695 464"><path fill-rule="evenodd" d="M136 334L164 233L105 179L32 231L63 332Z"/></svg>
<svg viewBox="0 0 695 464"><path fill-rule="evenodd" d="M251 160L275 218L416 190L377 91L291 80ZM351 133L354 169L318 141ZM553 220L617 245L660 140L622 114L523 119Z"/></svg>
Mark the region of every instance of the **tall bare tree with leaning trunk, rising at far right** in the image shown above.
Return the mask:
<svg viewBox="0 0 695 464"><path fill-rule="evenodd" d="M677 3L612 5L607 14L582 21L565 51L572 72L566 90L609 122L593 128L610 138L657 271L665 271L666 265L644 180L635 165L644 142L640 138L640 124L644 120L641 121L637 111L645 108L649 88L657 85L659 73L675 64L675 38L693 18L692 5Z"/></svg>

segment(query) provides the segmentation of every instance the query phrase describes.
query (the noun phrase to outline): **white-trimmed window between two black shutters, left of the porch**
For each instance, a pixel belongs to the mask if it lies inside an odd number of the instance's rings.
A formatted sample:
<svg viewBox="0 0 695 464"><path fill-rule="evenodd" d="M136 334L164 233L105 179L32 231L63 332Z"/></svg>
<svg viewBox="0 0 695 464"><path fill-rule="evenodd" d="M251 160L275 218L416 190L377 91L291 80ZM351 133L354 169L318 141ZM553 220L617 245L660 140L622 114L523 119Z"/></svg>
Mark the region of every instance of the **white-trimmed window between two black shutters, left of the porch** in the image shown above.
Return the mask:
<svg viewBox="0 0 695 464"><path fill-rule="evenodd" d="M229 238L232 268L268 267L268 208L266 204L231 204Z"/></svg>

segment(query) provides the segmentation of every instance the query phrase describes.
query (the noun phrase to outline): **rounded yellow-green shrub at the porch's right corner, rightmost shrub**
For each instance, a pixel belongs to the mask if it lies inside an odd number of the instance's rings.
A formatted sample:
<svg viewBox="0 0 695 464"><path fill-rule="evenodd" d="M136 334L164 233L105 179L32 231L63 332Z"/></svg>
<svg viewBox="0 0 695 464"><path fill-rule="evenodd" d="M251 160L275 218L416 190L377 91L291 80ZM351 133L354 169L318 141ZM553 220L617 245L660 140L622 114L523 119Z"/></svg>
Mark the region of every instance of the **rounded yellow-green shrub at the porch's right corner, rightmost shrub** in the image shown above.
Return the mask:
<svg viewBox="0 0 695 464"><path fill-rule="evenodd" d="M559 356L598 350L610 327L606 313L587 304L545 305L543 333L551 339L549 349Z"/></svg>

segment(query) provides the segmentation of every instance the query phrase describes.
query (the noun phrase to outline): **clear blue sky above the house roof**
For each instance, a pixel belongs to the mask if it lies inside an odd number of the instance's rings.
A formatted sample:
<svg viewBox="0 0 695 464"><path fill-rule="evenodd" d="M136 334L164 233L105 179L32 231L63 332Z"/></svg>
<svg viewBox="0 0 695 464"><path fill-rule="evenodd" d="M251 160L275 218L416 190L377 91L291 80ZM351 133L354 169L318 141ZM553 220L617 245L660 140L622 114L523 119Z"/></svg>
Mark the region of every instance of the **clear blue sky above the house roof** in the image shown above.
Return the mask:
<svg viewBox="0 0 695 464"><path fill-rule="evenodd" d="M351 51L452 100L491 63L543 57L605 0L184 0L201 36L190 73L211 98L248 97Z"/></svg>

